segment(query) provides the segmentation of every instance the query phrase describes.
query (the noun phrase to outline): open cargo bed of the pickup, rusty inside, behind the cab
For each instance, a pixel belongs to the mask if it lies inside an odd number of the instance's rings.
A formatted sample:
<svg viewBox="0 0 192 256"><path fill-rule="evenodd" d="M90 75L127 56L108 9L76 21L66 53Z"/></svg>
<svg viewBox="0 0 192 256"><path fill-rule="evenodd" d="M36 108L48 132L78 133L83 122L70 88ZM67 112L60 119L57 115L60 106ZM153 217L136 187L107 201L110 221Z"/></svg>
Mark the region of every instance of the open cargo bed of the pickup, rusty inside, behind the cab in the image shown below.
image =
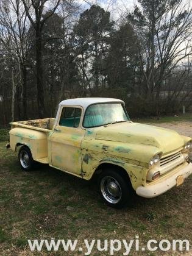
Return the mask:
<svg viewBox="0 0 192 256"><path fill-rule="evenodd" d="M13 122L10 124L12 124L12 129L15 127L24 127L33 130L40 130L42 132L51 132L54 123L55 118L44 118L29 121Z"/></svg>

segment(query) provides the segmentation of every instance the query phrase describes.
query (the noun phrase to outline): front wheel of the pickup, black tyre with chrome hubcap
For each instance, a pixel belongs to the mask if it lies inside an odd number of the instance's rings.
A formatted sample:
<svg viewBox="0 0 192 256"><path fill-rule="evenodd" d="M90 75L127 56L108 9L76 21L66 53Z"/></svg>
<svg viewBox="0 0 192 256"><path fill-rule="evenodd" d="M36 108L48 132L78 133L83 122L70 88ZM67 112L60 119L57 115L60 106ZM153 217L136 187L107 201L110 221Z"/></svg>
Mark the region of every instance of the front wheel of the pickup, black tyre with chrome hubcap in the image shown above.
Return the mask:
<svg viewBox="0 0 192 256"><path fill-rule="evenodd" d="M98 179L102 200L110 207L123 208L131 196L130 181L115 169L104 169Z"/></svg>

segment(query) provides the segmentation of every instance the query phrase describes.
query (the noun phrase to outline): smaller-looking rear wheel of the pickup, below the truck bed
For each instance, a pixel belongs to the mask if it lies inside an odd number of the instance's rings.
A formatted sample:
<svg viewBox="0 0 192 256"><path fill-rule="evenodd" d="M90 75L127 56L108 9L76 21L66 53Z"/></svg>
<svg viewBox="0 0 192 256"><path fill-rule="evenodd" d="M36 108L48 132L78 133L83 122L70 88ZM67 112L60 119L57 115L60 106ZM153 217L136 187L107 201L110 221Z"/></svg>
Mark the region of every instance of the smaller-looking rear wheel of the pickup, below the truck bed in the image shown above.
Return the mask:
<svg viewBox="0 0 192 256"><path fill-rule="evenodd" d="M19 157L21 168L23 168L25 171L30 171L34 166L34 159L32 157L30 149L27 148L26 146L22 146L20 148L18 157Z"/></svg>

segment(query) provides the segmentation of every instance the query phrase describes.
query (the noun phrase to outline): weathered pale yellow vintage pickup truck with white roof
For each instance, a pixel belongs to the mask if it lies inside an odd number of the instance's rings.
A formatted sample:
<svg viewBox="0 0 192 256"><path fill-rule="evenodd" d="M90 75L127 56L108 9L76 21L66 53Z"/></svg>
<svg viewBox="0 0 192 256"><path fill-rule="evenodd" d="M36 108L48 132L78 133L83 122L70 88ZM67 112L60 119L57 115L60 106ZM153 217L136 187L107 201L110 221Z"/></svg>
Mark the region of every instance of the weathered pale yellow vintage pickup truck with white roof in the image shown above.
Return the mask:
<svg viewBox="0 0 192 256"><path fill-rule="evenodd" d="M158 196L192 173L191 138L133 123L119 99L67 99L55 119L11 124L8 147L20 148L24 170L40 162L85 180L97 177L99 193L112 207L126 205L134 190Z"/></svg>

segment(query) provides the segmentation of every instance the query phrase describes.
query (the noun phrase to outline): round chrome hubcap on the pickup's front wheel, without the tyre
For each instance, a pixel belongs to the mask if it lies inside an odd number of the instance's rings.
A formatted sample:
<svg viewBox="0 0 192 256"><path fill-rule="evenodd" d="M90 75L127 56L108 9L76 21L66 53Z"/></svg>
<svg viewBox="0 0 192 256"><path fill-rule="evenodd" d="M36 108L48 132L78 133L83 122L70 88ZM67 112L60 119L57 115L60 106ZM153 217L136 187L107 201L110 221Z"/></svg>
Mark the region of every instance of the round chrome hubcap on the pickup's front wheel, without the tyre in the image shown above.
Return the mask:
<svg viewBox="0 0 192 256"><path fill-rule="evenodd" d="M106 176L101 180L101 193L111 204L117 204L121 200L121 187L113 177Z"/></svg>

